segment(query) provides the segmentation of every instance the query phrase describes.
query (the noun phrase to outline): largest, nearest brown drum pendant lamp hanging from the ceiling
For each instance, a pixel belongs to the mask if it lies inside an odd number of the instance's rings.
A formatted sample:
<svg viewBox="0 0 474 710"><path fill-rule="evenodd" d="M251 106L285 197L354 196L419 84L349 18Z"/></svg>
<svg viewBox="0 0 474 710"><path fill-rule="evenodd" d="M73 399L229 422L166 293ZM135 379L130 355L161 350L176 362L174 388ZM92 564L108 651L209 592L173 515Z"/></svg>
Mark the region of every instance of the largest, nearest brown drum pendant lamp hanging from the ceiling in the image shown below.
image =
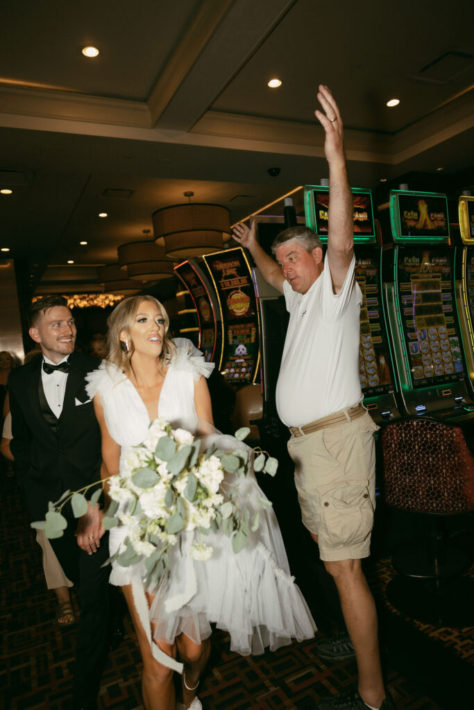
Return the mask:
<svg viewBox="0 0 474 710"><path fill-rule="evenodd" d="M165 240L166 255L181 259L222 249L230 236L230 214L220 204L188 202L153 212L155 241Z"/></svg>

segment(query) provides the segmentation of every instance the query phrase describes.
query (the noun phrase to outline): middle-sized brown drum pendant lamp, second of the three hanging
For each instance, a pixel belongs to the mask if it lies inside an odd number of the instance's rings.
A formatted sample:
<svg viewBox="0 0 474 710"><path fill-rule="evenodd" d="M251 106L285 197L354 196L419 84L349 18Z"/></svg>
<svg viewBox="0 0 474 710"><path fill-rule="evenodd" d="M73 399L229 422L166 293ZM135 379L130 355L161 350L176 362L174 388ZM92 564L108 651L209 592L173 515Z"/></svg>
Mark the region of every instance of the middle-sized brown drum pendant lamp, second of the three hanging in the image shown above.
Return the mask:
<svg viewBox="0 0 474 710"><path fill-rule="evenodd" d="M173 261L166 256L163 246L154 241L131 241L117 249L122 275L140 281L158 281L173 275Z"/></svg>

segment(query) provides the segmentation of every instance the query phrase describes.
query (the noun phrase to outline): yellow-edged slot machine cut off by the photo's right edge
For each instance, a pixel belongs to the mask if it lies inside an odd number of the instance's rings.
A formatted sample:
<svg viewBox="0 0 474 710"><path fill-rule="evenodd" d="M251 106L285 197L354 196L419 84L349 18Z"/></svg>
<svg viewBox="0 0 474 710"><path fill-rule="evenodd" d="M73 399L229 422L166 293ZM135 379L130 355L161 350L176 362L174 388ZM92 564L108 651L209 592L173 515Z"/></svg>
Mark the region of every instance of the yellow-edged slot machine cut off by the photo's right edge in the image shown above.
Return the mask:
<svg viewBox="0 0 474 710"><path fill-rule="evenodd" d="M474 197L461 195L458 202L459 229L463 246L458 250L456 295L469 387L474 396Z"/></svg>

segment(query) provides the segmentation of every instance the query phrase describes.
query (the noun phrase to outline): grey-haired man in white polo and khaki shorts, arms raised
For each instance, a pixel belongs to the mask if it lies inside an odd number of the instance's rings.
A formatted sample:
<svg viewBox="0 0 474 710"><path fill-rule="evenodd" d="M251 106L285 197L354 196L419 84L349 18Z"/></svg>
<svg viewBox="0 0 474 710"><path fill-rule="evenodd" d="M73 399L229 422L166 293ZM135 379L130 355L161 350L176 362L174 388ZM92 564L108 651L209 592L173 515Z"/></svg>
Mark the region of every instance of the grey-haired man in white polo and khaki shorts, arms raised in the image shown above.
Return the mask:
<svg viewBox="0 0 474 710"><path fill-rule="evenodd" d="M343 148L343 123L328 87L315 111L325 130L329 165L328 249L305 226L276 237L276 263L259 246L255 223L234 236L264 279L284 293L290 320L276 386L276 407L289 427L289 453L303 523L318 542L335 580L359 670L358 688L318 703L319 710L389 710L380 669L375 603L362 572L370 552L375 506L377 426L362 406L360 305L354 277L353 206ZM348 648L349 652L352 649Z"/></svg>

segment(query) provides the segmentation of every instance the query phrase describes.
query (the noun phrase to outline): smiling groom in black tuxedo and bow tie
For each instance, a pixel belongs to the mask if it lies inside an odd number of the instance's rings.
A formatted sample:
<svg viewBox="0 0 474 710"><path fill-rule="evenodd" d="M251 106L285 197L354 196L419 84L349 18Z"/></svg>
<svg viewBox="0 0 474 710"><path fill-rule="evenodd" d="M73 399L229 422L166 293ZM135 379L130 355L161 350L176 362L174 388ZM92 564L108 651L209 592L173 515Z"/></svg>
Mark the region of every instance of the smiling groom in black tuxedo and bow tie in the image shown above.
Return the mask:
<svg viewBox="0 0 474 710"><path fill-rule="evenodd" d="M29 324L43 357L16 368L9 378L11 452L28 513L32 520L44 520L48 501L100 479L100 430L85 391L85 375L97 369L97 361L75 352L76 327L64 297L34 302ZM99 504L77 520L69 504L62 512L68 528L50 542L80 590L74 708L93 710L107 657L110 568L102 564L109 557L108 534Z"/></svg>

